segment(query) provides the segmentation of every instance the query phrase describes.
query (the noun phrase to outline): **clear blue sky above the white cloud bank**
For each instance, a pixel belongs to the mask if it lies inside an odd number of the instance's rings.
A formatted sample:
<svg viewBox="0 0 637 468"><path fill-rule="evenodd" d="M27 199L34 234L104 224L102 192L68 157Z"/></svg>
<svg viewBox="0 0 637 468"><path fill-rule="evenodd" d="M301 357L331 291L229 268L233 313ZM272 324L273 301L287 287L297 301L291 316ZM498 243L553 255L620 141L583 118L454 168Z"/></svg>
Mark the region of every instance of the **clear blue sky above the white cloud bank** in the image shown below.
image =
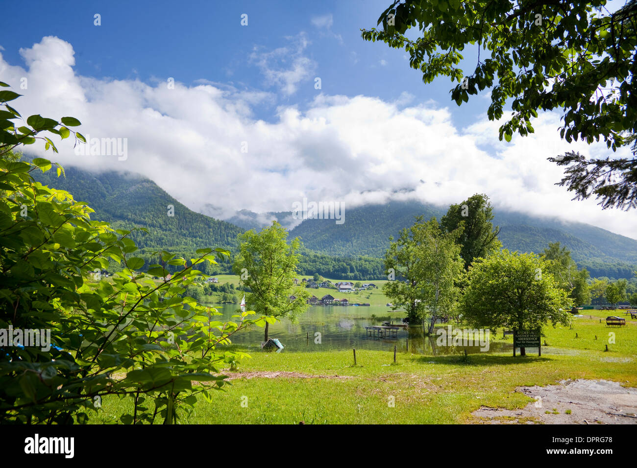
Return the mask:
<svg viewBox="0 0 637 468"><path fill-rule="evenodd" d="M70 5L70 6L66 6ZM264 89L259 67L248 60L254 48L272 50L289 44L287 37L305 32L304 51L317 67L326 94L378 96L387 101L403 92L413 102L434 99L454 111L454 123L473 123L488 102L473 99L462 111L450 100L452 83L440 78L422 83L419 71L408 66L402 50L361 38L361 28L376 26L387 0L326 2L175 1L76 2L60 8L42 3L39 13L18 11L6 25L1 41L9 62L20 62L18 50L43 36L57 36L75 48L75 69L85 76L152 82L172 76L192 85L196 80L231 84L238 89ZM101 15L96 27L94 14ZM241 14L248 26L241 26ZM313 23L315 20L315 23ZM321 21L323 20L323 21ZM317 25L318 24L318 25ZM324 25L321 25L324 24ZM468 65L475 52L466 50ZM276 103L255 108L258 118L273 120L272 106L294 103L303 108L317 95L314 82L299 83L294 96L280 96Z"/></svg>

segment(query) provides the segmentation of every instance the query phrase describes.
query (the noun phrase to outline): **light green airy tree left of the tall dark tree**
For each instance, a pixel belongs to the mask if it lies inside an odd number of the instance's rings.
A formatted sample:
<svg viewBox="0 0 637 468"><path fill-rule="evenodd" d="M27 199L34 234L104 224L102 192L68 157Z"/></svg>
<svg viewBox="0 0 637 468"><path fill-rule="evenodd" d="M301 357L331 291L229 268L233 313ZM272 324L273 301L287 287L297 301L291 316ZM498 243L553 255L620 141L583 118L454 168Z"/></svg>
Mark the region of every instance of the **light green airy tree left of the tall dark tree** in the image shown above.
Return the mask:
<svg viewBox="0 0 637 468"><path fill-rule="evenodd" d="M390 239L393 240L393 239ZM406 309L410 323L424 320L431 313L450 311L457 295L455 281L462 271L457 232L440 229L435 218L424 222L422 216L409 230L403 229L385 254L389 278L383 292L392 299L392 309Z"/></svg>

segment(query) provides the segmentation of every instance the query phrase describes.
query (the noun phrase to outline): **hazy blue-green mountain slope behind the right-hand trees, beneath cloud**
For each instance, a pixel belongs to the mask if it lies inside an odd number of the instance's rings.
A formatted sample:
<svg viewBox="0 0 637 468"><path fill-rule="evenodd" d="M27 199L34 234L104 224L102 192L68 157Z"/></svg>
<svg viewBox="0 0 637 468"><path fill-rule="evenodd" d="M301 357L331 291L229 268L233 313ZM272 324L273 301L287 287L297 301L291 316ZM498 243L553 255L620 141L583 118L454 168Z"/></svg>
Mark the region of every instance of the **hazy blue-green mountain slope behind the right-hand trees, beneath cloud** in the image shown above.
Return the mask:
<svg viewBox="0 0 637 468"><path fill-rule="evenodd" d="M415 201L362 206L348 209L344 224L304 220L290 234L299 236L307 248L316 252L381 257L389 236L396 237L403 227L413 223L415 216L440 219L445 212L445 208ZM585 223L496 211L494 225L500 226L499 238L509 250L542 252L548 243L559 241L592 276L630 278L637 265L637 240Z"/></svg>

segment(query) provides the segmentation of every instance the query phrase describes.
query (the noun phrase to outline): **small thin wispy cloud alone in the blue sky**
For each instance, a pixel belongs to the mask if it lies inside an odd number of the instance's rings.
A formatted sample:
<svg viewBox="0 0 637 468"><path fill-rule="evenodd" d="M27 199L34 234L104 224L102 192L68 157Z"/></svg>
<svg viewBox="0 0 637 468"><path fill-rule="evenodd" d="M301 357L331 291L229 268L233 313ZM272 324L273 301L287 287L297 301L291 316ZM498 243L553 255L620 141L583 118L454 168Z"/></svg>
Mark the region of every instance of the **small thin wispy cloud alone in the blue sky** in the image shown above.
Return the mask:
<svg viewBox="0 0 637 468"><path fill-rule="evenodd" d="M304 32L286 39L290 41L289 46L270 52L262 52L260 47L255 47L250 54L250 62L261 69L266 78L266 86L278 87L283 95L291 96L297 91L299 83L313 78L317 64L303 55L310 44Z"/></svg>

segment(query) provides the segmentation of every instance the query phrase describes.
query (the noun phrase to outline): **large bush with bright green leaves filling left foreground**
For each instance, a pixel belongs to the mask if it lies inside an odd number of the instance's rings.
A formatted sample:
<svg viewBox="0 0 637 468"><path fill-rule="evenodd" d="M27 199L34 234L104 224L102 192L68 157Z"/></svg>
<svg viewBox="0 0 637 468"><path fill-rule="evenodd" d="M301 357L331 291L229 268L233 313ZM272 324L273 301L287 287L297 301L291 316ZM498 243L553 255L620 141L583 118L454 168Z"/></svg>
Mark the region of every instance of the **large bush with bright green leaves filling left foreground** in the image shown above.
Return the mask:
<svg viewBox="0 0 637 468"><path fill-rule="evenodd" d="M68 128L80 125L70 117L36 115L18 127L20 114L6 104L18 96L0 91L0 329L50 330L52 346L0 341L0 423L86 423L106 395L132 399L118 422L175 423L222 388L222 369L245 357L217 345L264 318L246 312L222 322L184 296L202 274L194 266L229 252L203 248L193 259L158 252L179 271L168 279L155 264L143 273L130 231L92 220L89 206L34 181L33 171L53 164L22 162L14 150L43 139L57 152L53 135L84 138ZM122 271L101 278L109 260Z"/></svg>

